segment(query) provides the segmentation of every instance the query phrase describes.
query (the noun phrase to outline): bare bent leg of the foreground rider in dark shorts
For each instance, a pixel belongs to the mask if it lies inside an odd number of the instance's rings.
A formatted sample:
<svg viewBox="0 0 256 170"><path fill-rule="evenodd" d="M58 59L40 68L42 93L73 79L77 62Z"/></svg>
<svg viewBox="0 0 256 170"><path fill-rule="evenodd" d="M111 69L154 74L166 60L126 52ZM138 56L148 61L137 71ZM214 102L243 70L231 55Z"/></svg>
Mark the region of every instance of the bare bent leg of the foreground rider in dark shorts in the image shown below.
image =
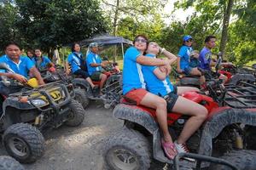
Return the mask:
<svg viewBox="0 0 256 170"><path fill-rule="evenodd" d="M207 109L204 106L181 96L178 97L172 111L191 116L185 123L182 133L177 138L177 144L185 143L207 118Z"/></svg>

